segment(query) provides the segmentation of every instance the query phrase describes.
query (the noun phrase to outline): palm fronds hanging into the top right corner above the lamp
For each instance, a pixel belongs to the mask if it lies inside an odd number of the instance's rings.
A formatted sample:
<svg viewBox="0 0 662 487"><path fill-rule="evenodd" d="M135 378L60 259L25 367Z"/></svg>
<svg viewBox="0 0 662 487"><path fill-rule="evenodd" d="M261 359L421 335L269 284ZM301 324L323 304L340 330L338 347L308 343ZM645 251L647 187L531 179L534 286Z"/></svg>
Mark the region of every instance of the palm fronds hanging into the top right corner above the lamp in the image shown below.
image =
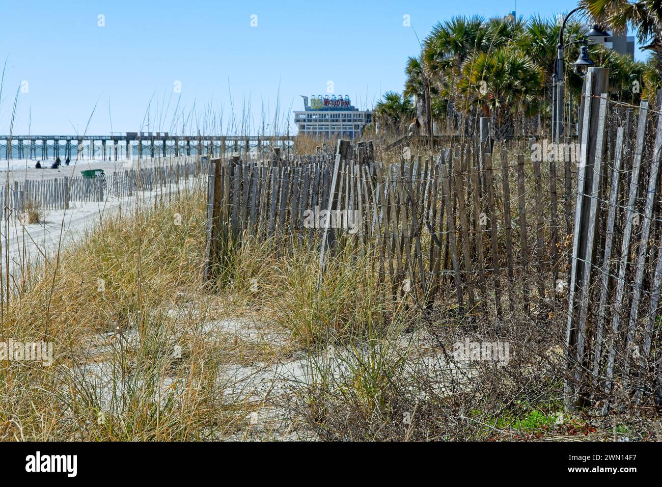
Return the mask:
<svg viewBox="0 0 662 487"><path fill-rule="evenodd" d="M616 32L628 24L637 30L642 49L653 54L653 64L662 73L662 2L659 0L581 0L580 5L596 21L606 23ZM646 44L647 43L647 44Z"/></svg>

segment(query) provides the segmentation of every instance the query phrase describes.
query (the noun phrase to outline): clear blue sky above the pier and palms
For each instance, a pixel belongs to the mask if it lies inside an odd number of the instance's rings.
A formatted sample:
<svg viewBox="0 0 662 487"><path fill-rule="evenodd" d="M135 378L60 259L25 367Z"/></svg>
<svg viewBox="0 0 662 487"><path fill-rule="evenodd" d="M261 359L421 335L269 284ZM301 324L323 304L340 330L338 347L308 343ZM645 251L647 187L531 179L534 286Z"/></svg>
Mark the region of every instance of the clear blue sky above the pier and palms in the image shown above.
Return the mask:
<svg viewBox="0 0 662 487"><path fill-rule="evenodd" d="M334 93L371 107L383 91L401 91L406 58L420 50L414 30L422 40L454 15L502 17L515 9L514 1L487 0L0 5L0 62L7 58L0 133L9 133L15 94L26 81L13 133L37 135L82 134L97 102L88 134L146 130L148 120L151 131L182 133L182 117L186 133L218 132L210 114L218 119L221 112L224 132L232 130L232 113L236 123L250 113L251 133L263 119L271 131L277 103L282 128L291 109L301 109L299 95L325 93L328 81ZM551 17L576 5L520 0L517 14Z"/></svg>

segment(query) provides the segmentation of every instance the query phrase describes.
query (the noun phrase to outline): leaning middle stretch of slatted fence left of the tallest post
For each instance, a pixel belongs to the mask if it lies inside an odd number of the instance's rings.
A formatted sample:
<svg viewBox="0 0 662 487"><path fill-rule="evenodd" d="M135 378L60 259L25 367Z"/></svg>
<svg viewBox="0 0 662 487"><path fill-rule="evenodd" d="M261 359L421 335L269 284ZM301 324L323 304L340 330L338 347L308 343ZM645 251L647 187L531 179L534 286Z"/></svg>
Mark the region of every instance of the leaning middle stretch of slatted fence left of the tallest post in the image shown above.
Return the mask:
<svg viewBox="0 0 662 487"><path fill-rule="evenodd" d="M281 239L319 250L320 278L340 250L367 255L395 298L426 306L451 292L459 311L500 316L555 299L559 199L573 195L555 194L572 186L548 161L475 143L395 164L364 155L341 140L331 156L213 159L207 276L220 243Z"/></svg>

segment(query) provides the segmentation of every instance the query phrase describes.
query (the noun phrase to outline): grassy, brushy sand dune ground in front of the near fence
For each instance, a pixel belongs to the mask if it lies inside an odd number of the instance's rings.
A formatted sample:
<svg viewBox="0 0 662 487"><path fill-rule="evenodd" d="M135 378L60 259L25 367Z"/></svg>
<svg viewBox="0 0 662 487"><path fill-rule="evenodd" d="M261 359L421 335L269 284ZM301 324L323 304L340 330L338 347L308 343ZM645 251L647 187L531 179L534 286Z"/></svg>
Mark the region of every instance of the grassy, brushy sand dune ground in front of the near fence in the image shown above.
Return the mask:
<svg viewBox="0 0 662 487"><path fill-rule="evenodd" d="M0 439L281 437L280 426L255 433L247 420L265 406L330 440L574 437L587 424L612 438L590 411L559 420L561 301L501 320L479 309L459 316L447 284L424 310L415 296L393 301L390 283L351 246L318 288L315 247L280 237L224 248L218 279L203 285L205 201L197 191L106 219L3 303L0 341L50 341L55 362L0 370ZM226 318L246 319L267 338L201 331ZM465 337L508 341L511 363L457 373L462 364L449 353ZM292 378L285 393L227 392L238 382L228 370L302 360L310 382Z"/></svg>

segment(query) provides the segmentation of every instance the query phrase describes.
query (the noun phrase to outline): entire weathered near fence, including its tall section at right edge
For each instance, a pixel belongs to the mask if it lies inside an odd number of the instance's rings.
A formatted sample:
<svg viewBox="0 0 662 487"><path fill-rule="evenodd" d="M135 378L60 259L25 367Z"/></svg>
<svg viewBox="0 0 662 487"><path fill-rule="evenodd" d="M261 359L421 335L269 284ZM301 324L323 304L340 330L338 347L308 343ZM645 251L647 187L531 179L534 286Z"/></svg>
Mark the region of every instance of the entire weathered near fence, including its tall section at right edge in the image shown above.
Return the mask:
<svg viewBox="0 0 662 487"><path fill-rule="evenodd" d="M662 91L655 109L610 103L605 76L589 70L579 143L551 159L469 143L384 164L340 141L213 160L207 277L227 243L277 239L318 251L322 278L337 252L360 253L393 298L453 296L494 323L567 306L566 406L662 402Z"/></svg>

